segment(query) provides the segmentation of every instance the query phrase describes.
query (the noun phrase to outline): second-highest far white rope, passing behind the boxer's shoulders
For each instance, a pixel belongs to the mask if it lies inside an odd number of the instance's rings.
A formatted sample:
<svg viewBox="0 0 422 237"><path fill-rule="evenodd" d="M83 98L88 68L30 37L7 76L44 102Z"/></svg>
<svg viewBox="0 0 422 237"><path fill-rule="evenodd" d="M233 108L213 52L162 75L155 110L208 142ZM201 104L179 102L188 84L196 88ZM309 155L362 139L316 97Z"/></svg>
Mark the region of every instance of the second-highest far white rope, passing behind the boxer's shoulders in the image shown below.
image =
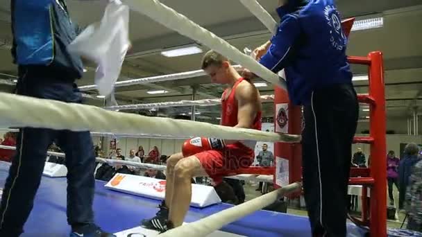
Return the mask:
<svg viewBox="0 0 422 237"><path fill-rule="evenodd" d="M273 95L261 96L262 102L270 102L274 100ZM184 107L184 106L212 106L221 104L220 98L203 99L203 100L179 100L158 103L144 103L135 105L115 105L104 107L108 110L126 110L126 109L151 109L151 108L164 108L164 107Z"/></svg>

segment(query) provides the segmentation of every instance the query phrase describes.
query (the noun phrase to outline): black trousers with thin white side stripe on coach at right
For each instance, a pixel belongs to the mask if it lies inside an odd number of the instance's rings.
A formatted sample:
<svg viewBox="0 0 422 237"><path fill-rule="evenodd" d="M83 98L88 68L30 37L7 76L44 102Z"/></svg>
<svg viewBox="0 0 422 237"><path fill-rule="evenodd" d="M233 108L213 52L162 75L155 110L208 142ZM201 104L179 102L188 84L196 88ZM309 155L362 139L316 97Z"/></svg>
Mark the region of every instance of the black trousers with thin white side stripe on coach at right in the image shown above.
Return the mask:
<svg viewBox="0 0 422 237"><path fill-rule="evenodd" d="M352 85L312 92L305 105L303 188L313 236L346 236L351 145L359 105Z"/></svg>

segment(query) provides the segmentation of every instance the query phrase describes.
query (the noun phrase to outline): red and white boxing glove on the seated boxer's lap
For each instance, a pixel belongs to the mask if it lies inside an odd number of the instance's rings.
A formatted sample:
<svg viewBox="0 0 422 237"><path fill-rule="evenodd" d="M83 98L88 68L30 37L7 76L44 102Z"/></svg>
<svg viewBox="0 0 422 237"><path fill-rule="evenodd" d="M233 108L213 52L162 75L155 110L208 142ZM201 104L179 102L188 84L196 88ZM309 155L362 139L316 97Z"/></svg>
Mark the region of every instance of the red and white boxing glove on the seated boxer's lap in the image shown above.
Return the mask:
<svg viewBox="0 0 422 237"><path fill-rule="evenodd" d="M219 150L224 148L224 146L226 145L221 139L195 137L193 139L187 139L183 143L182 154L183 157L189 157L205 150Z"/></svg>

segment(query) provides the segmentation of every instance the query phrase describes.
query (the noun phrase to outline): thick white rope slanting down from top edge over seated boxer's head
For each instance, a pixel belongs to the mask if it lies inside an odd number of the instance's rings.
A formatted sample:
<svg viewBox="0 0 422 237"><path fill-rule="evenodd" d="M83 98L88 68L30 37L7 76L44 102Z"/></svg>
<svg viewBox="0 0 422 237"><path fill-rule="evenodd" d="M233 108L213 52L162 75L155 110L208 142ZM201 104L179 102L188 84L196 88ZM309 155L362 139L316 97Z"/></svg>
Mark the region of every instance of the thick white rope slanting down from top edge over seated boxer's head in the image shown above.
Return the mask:
<svg viewBox="0 0 422 237"><path fill-rule="evenodd" d="M159 1L126 0L124 3L128 4L128 6L130 6L133 10L141 12L160 24L167 26L167 28L176 30L181 35L185 35L192 40L205 44L210 49L225 55L230 60L233 60L241 64L243 67L253 71L262 79L286 90L287 87L285 80L280 78L276 73L273 73L256 62L250 56L245 55L234 46L228 44L225 40L221 39L217 35L214 35L214 33L211 33L209 30L199 26L194 21L191 21L184 15L181 15Z"/></svg>

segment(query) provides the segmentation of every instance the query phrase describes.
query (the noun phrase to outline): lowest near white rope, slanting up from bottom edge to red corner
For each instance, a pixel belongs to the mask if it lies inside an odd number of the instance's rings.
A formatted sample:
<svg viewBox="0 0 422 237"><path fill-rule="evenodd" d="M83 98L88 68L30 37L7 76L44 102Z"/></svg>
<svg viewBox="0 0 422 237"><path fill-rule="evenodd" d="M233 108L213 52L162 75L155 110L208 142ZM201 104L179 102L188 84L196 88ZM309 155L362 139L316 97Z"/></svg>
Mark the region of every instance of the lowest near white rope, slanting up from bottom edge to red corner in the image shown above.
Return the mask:
<svg viewBox="0 0 422 237"><path fill-rule="evenodd" d="M171 236L171 237L185 237L185 236L207 236L217 229L221 229L224 225L228 225L239 218L247 216L255 211L259 211L264 207L276 202L278 198L285 196L294 191L299 191L301 189L301 183L293 183L282 188L278 188L271 193L267 193L243 204L239 204L235 207L214 213L211 216L197 220L196 222L191 222L186 225L182 225L175 229L170 229L169 231L160 234L159 236Z"/></svg>

